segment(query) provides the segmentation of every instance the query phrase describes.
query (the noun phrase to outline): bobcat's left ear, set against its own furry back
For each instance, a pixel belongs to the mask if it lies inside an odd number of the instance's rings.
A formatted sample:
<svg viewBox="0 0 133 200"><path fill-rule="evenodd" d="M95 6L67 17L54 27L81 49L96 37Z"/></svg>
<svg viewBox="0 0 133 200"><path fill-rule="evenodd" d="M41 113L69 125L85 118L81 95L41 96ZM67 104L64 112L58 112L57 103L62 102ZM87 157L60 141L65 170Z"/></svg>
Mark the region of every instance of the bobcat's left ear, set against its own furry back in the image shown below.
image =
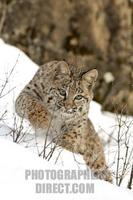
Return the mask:
<svg viewBox="0 0 133 200"><path fill-rule="evenodd" d="M65 61L59 61L57 63L56 75L60 75L60 74L70 74L69 66Z"/></svg>

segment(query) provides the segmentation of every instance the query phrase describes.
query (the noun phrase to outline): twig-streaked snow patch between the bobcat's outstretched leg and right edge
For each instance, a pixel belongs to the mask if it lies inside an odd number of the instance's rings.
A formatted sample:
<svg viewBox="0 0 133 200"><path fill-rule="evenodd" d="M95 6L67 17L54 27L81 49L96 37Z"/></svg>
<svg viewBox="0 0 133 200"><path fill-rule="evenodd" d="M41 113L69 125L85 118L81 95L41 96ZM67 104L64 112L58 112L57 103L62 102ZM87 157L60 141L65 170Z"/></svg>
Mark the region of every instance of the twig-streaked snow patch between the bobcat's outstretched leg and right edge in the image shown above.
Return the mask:
<svg viewBox="0 0 133 200"><path fill-rule="evenodd" d="M96 131L103 139L103 143L105 143L106 160L115 176L119 151L118 134L120 139L120 174L122 173L125 157L128 160L131 154L129 163L127 162L129 164L127 172L125 173L124 181L122 183L123 186L126 186L129 179L129 169L133 163L133 117L102 112L101 105L96 102L92 102L92 105L90 106L89 117L92 120ZM107 145L108 140L111 140L109 145ZM126 156L127 148L128 156Z"/></svg>

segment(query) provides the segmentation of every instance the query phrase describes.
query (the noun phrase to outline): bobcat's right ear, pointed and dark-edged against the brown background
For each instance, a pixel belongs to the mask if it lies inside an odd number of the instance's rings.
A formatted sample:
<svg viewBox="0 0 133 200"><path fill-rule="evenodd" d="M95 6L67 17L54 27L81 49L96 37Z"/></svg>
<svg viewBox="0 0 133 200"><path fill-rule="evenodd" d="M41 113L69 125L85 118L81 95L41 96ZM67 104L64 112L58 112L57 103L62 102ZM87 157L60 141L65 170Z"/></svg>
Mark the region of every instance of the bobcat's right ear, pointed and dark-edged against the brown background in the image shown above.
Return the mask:
<svg viewBox="0 0 133 200"><path fill-rule="evenodd" d="M82 76L83 85L86 86L87 89L93 88L93 86L95 85L95 82L97 80L97 77L98 77L98 71L96 69L86 72Z"/></svg>

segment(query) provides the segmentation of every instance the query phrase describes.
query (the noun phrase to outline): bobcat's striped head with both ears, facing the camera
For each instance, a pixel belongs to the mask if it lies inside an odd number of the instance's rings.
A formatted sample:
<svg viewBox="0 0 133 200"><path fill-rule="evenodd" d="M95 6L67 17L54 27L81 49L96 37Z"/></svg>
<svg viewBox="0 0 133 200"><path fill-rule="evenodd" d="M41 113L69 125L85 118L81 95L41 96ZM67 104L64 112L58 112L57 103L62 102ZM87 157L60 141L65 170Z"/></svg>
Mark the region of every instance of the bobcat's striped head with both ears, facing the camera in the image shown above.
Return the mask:
<svg viewBox="0 0 133 200"><path fill-rule="evenodd" d="M75 80L67 63L59 62L47 100L53 112L66 118L88 113L97 75L96 70L91 70Z"/></svg>

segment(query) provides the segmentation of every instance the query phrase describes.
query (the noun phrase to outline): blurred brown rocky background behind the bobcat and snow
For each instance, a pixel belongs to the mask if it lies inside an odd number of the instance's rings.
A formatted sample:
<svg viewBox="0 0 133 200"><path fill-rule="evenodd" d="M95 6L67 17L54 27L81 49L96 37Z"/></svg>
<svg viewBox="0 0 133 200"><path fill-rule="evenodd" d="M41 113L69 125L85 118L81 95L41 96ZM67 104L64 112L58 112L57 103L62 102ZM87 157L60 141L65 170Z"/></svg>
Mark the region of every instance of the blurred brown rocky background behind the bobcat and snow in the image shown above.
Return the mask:
<svg viewBox="0 0 133 200"><path fill-rule="evenodd" d="M0 0L0 37L39 65L97 68L95 100L133 115L132 0Z"/></svg>

